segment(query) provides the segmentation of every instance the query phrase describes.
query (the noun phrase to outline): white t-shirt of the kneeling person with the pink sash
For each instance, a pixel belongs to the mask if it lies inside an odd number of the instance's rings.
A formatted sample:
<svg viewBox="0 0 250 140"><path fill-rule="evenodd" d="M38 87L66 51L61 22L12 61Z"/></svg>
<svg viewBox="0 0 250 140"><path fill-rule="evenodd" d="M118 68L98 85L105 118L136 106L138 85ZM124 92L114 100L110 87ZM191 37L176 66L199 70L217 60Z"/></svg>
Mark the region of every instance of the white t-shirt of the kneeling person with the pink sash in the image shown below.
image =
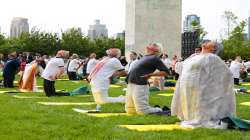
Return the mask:
<svg viewBox="0 0 250 140"><path fill-rule="evenodd" d="M114 74L115 71L122 69L124 69L124 67L117 58L110 58L91 79L91 86L94 86L95 89L98 90L107 90L110 83L109 78Z"/></svg>

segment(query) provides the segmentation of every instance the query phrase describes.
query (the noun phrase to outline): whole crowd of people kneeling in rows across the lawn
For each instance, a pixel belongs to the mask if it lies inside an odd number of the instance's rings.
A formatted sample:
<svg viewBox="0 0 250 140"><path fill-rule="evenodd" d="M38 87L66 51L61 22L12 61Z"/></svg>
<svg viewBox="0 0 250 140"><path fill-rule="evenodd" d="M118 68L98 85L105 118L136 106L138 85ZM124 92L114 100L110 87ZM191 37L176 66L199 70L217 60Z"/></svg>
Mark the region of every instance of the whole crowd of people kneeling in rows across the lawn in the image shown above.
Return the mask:
<svg viewBox="0 0 250 140"><path fill-rule="evenodd" d="M235 115L234 84L240 85L243 73L249 75L250 62L243 62L240 56L223 61L214 54L216 47L216 43L206 41L187 59L174 55L171 60L161 44L150 43L144 56L131 51L128 62L116 48L108 49L107 55L99 59L95 53L80 59L65 50L58 51L55 57L14 52L7 61L0 55L0 69L5 88L13 88L15 75L19 74L20 91L36 92L36 76L40 75L46 96L62 95L56 92L55 82L67 74L69 80L89 82L98 110L102 104L120 102L125 103L128 114L171 114L180 118L182 125L219 128L220 119ZM121 76L126 76L126 96L110 97L112 78ZM164 90L168 77L177 80L171 109L150 106L150 86Z"/></svg>

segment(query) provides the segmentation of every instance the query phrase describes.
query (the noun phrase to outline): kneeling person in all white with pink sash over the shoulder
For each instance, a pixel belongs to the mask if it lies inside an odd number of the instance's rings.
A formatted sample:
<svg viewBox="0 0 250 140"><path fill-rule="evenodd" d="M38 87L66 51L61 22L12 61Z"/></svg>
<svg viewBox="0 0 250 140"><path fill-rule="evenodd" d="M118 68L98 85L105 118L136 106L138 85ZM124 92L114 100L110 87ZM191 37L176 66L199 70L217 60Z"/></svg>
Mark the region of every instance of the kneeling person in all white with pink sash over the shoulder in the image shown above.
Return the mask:
<svg viewBox="0 0 250 140"><path fill-rule="evenodd" d="M120 53L119 49L109 49L107 51L108 56L99 61L89 74L88 79L97 109L100 109L101 104L125 102L124 96L109 97L108 95L110 78L112 76L126 75L124 67L117 59Z"/></svg>

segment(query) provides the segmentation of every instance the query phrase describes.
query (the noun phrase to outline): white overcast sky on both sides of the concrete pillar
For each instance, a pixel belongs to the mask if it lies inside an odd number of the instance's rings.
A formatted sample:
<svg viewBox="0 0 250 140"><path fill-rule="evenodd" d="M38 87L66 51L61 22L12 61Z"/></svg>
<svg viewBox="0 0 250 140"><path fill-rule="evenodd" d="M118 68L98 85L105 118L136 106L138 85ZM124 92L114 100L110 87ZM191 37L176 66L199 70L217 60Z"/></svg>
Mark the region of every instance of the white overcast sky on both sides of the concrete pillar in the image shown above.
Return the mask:
<svg viewBox="0 0 250 140"><path fill-rule="evenodd" d="M250 10L250 0L182 0L182 3L182 18L188 14L200 16L210 39L220 37L223 11L230 10L243 20ZM9 35L13 17L26 17L30 27L45 31L81 27L84 34L94 19L100 19L112 36L125 29L125 0L1 0L2 33Z"/></svg>

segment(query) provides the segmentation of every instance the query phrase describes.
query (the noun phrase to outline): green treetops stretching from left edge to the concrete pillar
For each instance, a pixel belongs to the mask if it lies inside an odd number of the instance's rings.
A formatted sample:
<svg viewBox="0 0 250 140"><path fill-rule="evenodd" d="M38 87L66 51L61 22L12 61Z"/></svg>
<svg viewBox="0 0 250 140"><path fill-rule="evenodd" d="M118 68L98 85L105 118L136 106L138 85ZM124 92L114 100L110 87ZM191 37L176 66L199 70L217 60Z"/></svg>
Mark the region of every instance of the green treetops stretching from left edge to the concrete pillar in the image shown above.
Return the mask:
<svg viewBox="0 0 250 140"><path fill-rule="evenodd" d="M18 38L5 38L0 35L0 52L3 54L17 51L54 55L56 51L64 49L80 56L86 57L95 52L98 57L102 57L107 49L113 47L121 49L124 53L125 40L113 38L90 40L74 28L63 32L61 37L56 33L41 32L35 28Z"/></svg>

